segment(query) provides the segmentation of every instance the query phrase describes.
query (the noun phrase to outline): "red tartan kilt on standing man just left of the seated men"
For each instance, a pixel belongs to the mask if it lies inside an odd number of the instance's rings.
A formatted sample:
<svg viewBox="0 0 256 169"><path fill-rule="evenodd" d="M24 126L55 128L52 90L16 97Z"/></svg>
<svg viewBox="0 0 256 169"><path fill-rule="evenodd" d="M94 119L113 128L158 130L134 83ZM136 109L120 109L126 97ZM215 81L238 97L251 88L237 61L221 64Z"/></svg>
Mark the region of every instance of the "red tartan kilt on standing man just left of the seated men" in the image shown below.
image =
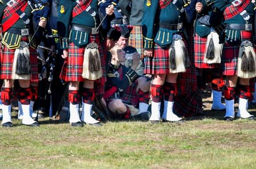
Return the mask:
<svg viewBox="0 0 256 169"><path fill-rule="evenodd" d="M104 62L103 49L101 47L99 35L90 34L89 43L91 43L92 41L99 45L101 62ZM85 80L82 77L85 49L86 47L76 47L74 43L70 43L68 45L68 58L67 61L64 62L62 72L60 73L60 79L63 79L66 82L83 82ZM104 71L104 69L102 70Z"/></svg>

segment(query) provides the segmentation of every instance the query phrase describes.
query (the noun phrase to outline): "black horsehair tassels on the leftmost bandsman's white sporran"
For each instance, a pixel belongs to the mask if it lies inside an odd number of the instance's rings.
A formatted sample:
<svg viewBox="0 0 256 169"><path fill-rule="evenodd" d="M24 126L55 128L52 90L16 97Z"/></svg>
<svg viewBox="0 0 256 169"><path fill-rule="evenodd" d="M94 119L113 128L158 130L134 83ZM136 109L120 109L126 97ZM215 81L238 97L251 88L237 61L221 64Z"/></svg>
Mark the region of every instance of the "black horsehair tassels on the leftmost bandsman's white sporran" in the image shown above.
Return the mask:
<svg viewBox="0 0 256 169"><path fill-rule="evenodd" d="M16 74L31 74L31 64L29 54L24 53L22 49L17 57Z"/></svg>

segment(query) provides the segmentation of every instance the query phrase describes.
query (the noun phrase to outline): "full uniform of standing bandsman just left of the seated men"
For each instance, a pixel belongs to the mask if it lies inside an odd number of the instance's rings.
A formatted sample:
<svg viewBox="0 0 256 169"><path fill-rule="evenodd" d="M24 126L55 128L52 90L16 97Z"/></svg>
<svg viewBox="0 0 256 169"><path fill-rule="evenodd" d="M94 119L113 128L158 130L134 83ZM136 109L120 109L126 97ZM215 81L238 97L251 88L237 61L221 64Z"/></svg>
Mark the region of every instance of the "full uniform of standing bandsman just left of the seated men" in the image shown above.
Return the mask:
<svg viewBox="0 0 256 169"><path fill-rule="evenodd" d="M71 1L63 0L59 4L59 16L58 16L58 32L60 36L60 47L62 49L68 49L68 58L66 64L64 64L60 78L64 81L71 82L83 82L85 78L82 77L83 69L94 69L95 65L89 64L88 67L83 66L84 53L86 52L86 47L88 44L93 43L97 45L97 50L100 54L100 65L98 61L96 62L97 72L103 74L103 78L100 78L100 86L105 82L104 70L105 67L99 69L99 66L104 66L105 61L105 48L100 40L101 30L103 35L104 30L110 28L110 20L113 19L112 16L106 16L103 24L99 29L100 20L99 20L99 10L105 15L105 5L97 5L97 0L91 1ZM114 16L113 16L114 17ZM86 22L85 22L86 19ZM68 21L68 22L67 22ZM71 28L71 29L70 29ZM88 47L89 50L90 47ZM96 48L93 48L96 49ZM88 55L85 55L88 57ZM91 60L91 58L88 58ZM90 75L90 74L89 74ZM98 74L99 77L99 74ZM95 80L95 79L91 79ZM98 86L98 85L97 85ZM94 88L82 88L82 98L83 98L83 111L82 117L79 117L78 107L80 102L79 91L69 90L69 101L70 101L70 110L71 117L70 122L72 126L82 126L82 122L88 124L99 124L99 121L96 121L91 117L91 108L92 102L95 97Z"/></svg>

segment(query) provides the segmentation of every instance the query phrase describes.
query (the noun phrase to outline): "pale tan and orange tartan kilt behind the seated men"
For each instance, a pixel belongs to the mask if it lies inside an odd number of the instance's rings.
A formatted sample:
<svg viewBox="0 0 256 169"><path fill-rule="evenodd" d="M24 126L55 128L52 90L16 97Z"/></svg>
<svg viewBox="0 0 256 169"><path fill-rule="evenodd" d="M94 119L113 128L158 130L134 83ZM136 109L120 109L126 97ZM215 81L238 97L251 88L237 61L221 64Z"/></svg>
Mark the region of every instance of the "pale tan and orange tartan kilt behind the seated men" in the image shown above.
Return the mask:
<svg viewBox="0 0 256 169"><path fill-rule="evenodd" d="M133 26L129 36L129 46L136 48L137 52L143 58L143 36L141 26Z"/></svg>

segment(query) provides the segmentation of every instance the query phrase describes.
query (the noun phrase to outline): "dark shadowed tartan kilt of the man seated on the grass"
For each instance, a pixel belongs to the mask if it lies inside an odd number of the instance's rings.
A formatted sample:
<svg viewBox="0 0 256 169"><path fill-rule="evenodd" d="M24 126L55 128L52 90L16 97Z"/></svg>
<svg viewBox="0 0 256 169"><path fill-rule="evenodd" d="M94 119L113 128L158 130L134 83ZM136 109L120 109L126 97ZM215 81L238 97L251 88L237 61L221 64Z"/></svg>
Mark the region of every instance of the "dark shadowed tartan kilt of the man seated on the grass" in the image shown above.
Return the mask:
<svg viewBox="0 0 256 169"><path fill-rule="evenodd" d="M137 107L139 103L139 97L136 93L137 82L133 82L130 86L128 86L127 90L123 92L121 96L121 100L125 102L131 103L134 107Z"/></svg>

